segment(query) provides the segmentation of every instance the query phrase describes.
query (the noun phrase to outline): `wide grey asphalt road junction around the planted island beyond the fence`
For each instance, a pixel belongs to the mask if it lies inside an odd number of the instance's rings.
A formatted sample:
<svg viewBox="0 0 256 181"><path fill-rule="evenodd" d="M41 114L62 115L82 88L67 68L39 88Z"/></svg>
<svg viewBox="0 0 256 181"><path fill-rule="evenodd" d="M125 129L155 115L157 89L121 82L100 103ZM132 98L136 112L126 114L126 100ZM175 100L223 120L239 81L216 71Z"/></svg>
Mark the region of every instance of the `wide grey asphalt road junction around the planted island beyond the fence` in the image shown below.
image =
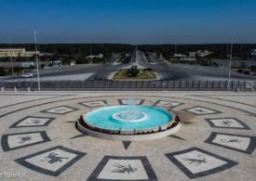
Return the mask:
<svg viewBox="0 0 256 181"><path fill-rule="evenodd" d="M125 69L132 65L139 68L152 68L157 72L157 76L162 80L227 80L228 70L224 68L206 67L198 65L170 64L165 63L163 59L153 58L153 63L147 61L143 52L135 50L130 56L125 58L120 64L115 64L120 55L117 55L111 62L106 64L94 65L75 65L69 67L56 67L48 70L40 70L40 77L69 76L88 74L85 79L88 80L106 80L115 71ZM36 71L32 72L34 77ZM2 80L20 80L20 76L2 77ZM245 75L238 72L232 72L232 80L256 81L256 76ZM23 79L26 80L26 79ZM29 79L28 79L29 80Z"/></svg>

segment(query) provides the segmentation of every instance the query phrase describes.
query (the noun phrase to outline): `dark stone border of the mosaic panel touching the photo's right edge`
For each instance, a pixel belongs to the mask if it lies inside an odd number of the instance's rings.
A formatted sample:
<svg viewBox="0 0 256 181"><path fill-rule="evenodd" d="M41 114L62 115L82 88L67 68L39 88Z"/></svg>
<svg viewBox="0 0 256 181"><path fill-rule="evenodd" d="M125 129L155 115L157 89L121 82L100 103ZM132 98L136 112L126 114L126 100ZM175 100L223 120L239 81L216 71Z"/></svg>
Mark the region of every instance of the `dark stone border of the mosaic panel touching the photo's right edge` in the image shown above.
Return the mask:
<svg viewBox="0 0 256 181"><path fill-rule="evenodd" d="M217 135L247 137L247 138L249 138L249 146L248 146L247 149L242 150L242 149L236 149L236 148L224 146L224 145L218 144L218 143L213 143L212 141L214 140L214 138ZM212 132L211 135L209 136L209 138L207 140L205 140L205 142L209 143L211 145L214 145L214 146L222 147L222 148L225 148L225 149L233 149L233 150L240 151L240 152L247 153L247 154L251 154L254 151L255 147L256 147L256 137L254 137L254 136L241 136L241 135L216 133L216 132Z"/></svg>

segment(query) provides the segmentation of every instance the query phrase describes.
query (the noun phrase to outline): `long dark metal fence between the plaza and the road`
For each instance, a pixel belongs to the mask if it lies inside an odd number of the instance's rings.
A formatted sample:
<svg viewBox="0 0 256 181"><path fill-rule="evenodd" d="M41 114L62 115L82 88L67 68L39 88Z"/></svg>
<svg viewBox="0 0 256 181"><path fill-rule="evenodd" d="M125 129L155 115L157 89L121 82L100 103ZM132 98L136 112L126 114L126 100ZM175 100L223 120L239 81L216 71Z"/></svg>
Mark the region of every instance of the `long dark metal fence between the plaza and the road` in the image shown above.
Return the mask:
<svg viewBox="0 0 256 181"><path fill-rule="evenodd" d="M251 89L256 82L250 82ZM228 81L43 81L41 90L227 90ZM2 82L5 90L16 87L18 90L37 90L37 82ZM230 90L247 89L246 81L231 81Z"/></svg>

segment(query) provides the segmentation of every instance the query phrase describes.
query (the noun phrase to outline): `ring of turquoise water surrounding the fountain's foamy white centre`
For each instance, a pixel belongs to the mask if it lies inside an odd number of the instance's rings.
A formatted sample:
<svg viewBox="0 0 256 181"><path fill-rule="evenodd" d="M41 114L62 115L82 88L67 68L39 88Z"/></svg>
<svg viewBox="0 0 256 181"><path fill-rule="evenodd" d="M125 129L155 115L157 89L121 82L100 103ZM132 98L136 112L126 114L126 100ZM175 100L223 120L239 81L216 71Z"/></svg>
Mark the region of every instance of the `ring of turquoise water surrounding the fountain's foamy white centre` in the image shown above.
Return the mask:
<svg viewBox="0 0 256 181"><path fill-rule="evenodd" d="M116 112L126 112L135 109L146 115L142 121L125 123L113 118ZM172 115L167 110L148 106L110 106L88 112L86 120L90 125L110 130L143 130L161 126L172 120ZM129 117L129 116L128 116ZM133 116L131 116L133 117ZM139 115L141 118L141 115Z"/></svg>

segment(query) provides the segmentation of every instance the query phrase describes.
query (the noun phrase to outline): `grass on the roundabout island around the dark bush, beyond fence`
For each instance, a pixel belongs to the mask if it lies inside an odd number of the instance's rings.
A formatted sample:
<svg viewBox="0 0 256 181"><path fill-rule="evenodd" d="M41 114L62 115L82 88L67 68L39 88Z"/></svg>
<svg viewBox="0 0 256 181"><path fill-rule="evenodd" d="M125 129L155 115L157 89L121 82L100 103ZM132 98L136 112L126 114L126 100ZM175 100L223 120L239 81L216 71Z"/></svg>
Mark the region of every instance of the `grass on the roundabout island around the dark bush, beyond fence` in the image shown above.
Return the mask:
<svg viewBox="0 0 256 181"><path fill-rule="evenodd" d="M136 76L131 76L127 73L127 70L121 70L115 73L113 79L133 80L133 79L156 79L155 72L153 71L141 71Z"/></svg>

